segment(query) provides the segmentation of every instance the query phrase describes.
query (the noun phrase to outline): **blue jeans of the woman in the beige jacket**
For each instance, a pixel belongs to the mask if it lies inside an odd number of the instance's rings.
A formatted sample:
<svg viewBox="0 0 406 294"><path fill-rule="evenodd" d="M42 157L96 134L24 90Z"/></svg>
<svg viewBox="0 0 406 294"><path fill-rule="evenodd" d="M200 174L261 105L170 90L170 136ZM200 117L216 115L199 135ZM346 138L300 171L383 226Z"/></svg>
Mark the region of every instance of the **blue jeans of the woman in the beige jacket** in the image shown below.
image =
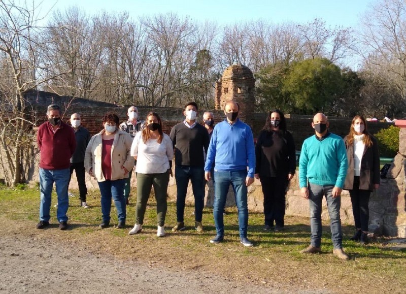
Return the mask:
<svg viewBox="0 0 406 294"><path fill-rule="evenodd" d="M124 185L125 179L107 180L97 182L101 194L101 218L104 222L110 222L111 199L114 200L114 205L117 209L117 218L119 221L125 221L125 198Z"/></svg>

